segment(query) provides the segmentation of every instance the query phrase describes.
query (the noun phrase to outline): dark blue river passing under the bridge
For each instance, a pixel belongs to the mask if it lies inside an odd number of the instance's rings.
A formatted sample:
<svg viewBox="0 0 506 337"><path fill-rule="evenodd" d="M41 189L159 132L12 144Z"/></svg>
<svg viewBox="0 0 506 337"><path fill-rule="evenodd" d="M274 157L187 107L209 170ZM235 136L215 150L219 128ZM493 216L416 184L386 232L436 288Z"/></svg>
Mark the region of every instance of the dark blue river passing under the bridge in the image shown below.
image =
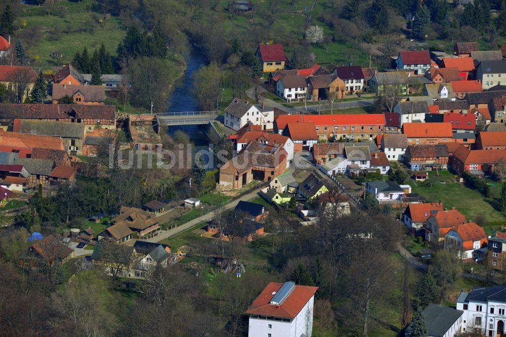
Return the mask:
<svg viewBox="0 0 506 337"><path fill-rule="evenodd" d="M186 70L178 80L178 85L172 91L167 112L198 111L197 98L193 95L193 74L207 63L207 59L201 50L190 45L190 53L186 57ZM203 133L203 128L203 125L177 125L168 127L168 134L172 135L176 130L183 130L195 145L195 152L206 150L209 146L210 141Z"/></svg>

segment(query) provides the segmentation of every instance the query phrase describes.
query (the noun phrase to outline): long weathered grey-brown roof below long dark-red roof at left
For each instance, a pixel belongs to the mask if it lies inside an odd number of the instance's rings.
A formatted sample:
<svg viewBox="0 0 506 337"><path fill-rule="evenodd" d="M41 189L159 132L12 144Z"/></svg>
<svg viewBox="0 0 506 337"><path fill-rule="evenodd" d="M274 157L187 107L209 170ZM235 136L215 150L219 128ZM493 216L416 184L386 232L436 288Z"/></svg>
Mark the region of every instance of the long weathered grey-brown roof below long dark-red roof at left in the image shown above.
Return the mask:
<svg viewBox="0 0 506 337"><path fill-rule="evenodd" d="M52 120L21 119L19 132L62 138L82 138L85 133L85 124Z"/></svg>

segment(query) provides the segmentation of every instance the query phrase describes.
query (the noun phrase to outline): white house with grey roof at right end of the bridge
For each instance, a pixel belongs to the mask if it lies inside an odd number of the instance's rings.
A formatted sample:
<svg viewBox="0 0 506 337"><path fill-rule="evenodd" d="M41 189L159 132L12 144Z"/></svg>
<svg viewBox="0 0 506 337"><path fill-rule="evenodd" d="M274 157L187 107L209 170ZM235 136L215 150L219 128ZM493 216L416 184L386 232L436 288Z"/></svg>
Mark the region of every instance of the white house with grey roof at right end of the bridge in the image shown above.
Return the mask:
<svg viewBox="0 0 506 337"><path fill-rule="evenodd" d="M233 130L239 130L250 121L262 125L262 130L272 130L274 109L262 104L251 104L239 98L234 98L225 109L225 125Z"/></svg>

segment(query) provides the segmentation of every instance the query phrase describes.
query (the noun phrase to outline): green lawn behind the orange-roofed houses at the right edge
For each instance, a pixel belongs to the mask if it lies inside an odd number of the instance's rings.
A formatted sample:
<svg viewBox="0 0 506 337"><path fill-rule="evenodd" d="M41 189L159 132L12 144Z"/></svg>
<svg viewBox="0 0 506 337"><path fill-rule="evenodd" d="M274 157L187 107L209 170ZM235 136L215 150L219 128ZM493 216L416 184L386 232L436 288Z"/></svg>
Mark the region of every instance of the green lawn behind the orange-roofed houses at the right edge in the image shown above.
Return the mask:
<svg viewBox="0 0 506 337"><path fill-rule="evenodd" d="M497 212L477 190L470 189L461 183L452 182L452 174L446 170L440 171L439 176L435 172L429 173L435 177L432 187L425 183L409 180L413 193L419 193L428 201L438 202L441 200L444 207L456 207L460 213L466 216L468 221L473 221L478 215L484 215L488 222L503 222L506 218ZM443 183L442 183L443 182Z"/></svg>

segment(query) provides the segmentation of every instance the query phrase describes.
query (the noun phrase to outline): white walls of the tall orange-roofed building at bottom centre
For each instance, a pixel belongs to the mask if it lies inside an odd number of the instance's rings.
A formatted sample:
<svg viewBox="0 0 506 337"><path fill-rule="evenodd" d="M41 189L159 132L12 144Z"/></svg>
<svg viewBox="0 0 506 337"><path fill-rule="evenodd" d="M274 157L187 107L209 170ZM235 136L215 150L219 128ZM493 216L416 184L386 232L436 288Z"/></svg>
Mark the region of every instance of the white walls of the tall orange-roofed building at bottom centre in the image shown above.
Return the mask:
<svg viewBox="0 0 506 337"><path fill-rule="evenodd" d="M309 337L313 333L313 305L314 296L292 320L268 320L250 315L248 337L300 337L303 333Z"/></svg>

